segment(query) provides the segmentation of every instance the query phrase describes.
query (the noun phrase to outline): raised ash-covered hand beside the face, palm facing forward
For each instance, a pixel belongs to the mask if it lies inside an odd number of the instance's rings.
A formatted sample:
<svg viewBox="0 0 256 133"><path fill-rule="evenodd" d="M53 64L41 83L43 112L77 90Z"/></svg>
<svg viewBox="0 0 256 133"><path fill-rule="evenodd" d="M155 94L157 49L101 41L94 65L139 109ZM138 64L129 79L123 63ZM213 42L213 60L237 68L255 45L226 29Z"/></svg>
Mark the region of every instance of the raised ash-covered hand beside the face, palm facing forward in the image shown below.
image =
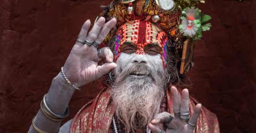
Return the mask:
<svg viewBox="0 0 256 133"><path fill-rule="evenodd" d="M106 38L109 31L116 25L116 19L111 19L105 23L105 18L101 17L93 26L92 30L87 34L91 22L87 20L78 35L78 39L93 43L98 43ZM68 59L63 66L63 71L71 84L80 87L100 78L103 74L109 72L116 67L113 62L113 53L109 48L102 49L102 56L106 58L107 63L98 65L100 58L97 55L97 48L86 44L76 42L72 48Z"/></svg>

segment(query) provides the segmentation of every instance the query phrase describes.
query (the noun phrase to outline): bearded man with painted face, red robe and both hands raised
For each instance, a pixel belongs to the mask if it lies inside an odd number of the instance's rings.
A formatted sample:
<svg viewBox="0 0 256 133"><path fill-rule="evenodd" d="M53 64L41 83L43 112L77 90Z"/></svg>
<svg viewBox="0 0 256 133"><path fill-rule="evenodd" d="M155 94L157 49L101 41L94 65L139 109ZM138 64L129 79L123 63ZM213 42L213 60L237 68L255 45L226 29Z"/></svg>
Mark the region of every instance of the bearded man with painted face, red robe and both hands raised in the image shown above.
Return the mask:
<svg viewBox="0 0 256 133"><path fill-rule="evenodd" d="M215 114L189 98L188 89L172 86L179 80L174 53L167 52L170 37L157 24L122 22L109 41L111 51L98 48L117 24L105 21L100 17L90 32L91 21L83 24L29 132L219 132ZM106 62L98 65L101 59ZM60 128L75 90L112 70L108 86Z"/></svg>

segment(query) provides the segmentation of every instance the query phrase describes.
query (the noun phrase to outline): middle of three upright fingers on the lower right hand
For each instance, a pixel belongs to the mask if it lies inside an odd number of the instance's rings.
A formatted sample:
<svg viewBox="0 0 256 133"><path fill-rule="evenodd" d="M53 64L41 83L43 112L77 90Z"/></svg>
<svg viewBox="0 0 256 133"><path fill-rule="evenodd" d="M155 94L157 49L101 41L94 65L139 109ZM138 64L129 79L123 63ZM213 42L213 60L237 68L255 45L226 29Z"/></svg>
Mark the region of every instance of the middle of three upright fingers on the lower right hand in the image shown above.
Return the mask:
<svg viewBox="0 0 256 133"><path fill-rule="evenodd" d="M182 90L182 98L180 103L180 113L189 113L189 93L188 89Z"/></svg>

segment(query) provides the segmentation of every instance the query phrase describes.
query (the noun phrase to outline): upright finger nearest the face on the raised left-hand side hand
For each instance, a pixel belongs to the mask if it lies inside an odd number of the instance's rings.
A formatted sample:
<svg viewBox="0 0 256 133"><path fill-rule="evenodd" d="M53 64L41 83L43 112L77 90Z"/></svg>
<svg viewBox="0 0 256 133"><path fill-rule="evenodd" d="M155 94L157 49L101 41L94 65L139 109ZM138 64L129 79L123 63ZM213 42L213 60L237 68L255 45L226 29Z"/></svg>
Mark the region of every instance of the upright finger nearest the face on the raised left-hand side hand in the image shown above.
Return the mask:
<svg viewBox="0 0 256 133"><path fill-rule="evenodd" d="M106 38L106 36L108 35L109 31L116 25L116 19L113 18L110 21L108 21L106 24L104 24L104 26L102 27L100 34L98 36L98 38L96 39L96 41L98 43L102 43L102 41Z"/></svg>

